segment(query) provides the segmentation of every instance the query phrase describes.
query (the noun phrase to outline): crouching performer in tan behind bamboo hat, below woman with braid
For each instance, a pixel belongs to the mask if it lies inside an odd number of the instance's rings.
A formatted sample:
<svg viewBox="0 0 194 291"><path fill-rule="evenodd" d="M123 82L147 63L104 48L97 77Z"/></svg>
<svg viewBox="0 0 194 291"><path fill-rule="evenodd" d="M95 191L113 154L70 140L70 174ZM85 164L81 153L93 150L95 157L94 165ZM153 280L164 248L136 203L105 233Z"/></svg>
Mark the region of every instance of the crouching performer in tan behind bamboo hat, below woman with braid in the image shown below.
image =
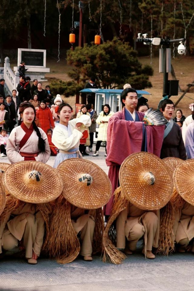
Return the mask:
<svg viewBox="0 0 194 291"><path fill-rule="evenodd" d="M48 165L24 161L8 166L2 182L7 199L0 216L0 253L21 246L28 263L36 264L52 211L46 202L61 194L62 179Z"/></svg>

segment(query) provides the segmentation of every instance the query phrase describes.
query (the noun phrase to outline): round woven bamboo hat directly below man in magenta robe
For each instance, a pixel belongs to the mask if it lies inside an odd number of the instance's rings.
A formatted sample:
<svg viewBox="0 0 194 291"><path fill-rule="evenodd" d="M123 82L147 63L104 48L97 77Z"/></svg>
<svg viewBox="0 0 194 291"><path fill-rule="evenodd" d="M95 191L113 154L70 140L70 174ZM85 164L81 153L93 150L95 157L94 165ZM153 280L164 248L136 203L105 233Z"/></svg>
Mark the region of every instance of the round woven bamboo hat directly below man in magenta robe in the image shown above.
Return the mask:
<svg viewBox="0 0 194 291"><path fill-rule="evenodd" d="M172 196L169 168L148 152L137 152L127 157L121 165L119 181L125 198L141 209L160 209Z"/></svg>

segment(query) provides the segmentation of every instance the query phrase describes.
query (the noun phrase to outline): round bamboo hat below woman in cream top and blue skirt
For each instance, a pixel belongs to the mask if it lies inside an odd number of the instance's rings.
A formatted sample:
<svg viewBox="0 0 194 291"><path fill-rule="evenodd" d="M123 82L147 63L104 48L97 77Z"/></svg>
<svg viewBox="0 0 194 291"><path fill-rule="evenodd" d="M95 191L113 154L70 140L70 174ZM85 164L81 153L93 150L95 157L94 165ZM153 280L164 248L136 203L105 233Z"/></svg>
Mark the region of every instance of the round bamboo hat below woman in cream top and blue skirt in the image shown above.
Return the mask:
<svg viewBox="0 0 194 291"><path fill-rule="evenodd" d="M111 183L96 164L79 158L67 159L56 168L63 179L62 194L70 203L84 209L105 205L111 197Z"/></svg>

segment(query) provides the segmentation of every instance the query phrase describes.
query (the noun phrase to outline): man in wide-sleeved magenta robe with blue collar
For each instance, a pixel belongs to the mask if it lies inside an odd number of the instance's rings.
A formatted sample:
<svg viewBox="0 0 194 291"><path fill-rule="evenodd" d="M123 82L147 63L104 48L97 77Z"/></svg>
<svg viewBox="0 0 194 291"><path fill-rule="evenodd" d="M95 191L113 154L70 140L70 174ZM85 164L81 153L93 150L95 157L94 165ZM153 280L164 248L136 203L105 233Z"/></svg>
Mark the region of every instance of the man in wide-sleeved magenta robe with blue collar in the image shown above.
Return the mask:
<svg viewBox="0 0 194 291"><path fill-rule="evenodd" d="M122 111L116 112L110 119L107 129L107 157L109 179L112 184L112 194L119 186L119 169L129 155L135 152L151 152L160 156L164 125L144 125L142 112L135 110L138 95L135 89L124 89L121 94ZM135 182L135 181L134 181ZM109 216L113 203L113 196L104 206L105 216Z"/></svg>

